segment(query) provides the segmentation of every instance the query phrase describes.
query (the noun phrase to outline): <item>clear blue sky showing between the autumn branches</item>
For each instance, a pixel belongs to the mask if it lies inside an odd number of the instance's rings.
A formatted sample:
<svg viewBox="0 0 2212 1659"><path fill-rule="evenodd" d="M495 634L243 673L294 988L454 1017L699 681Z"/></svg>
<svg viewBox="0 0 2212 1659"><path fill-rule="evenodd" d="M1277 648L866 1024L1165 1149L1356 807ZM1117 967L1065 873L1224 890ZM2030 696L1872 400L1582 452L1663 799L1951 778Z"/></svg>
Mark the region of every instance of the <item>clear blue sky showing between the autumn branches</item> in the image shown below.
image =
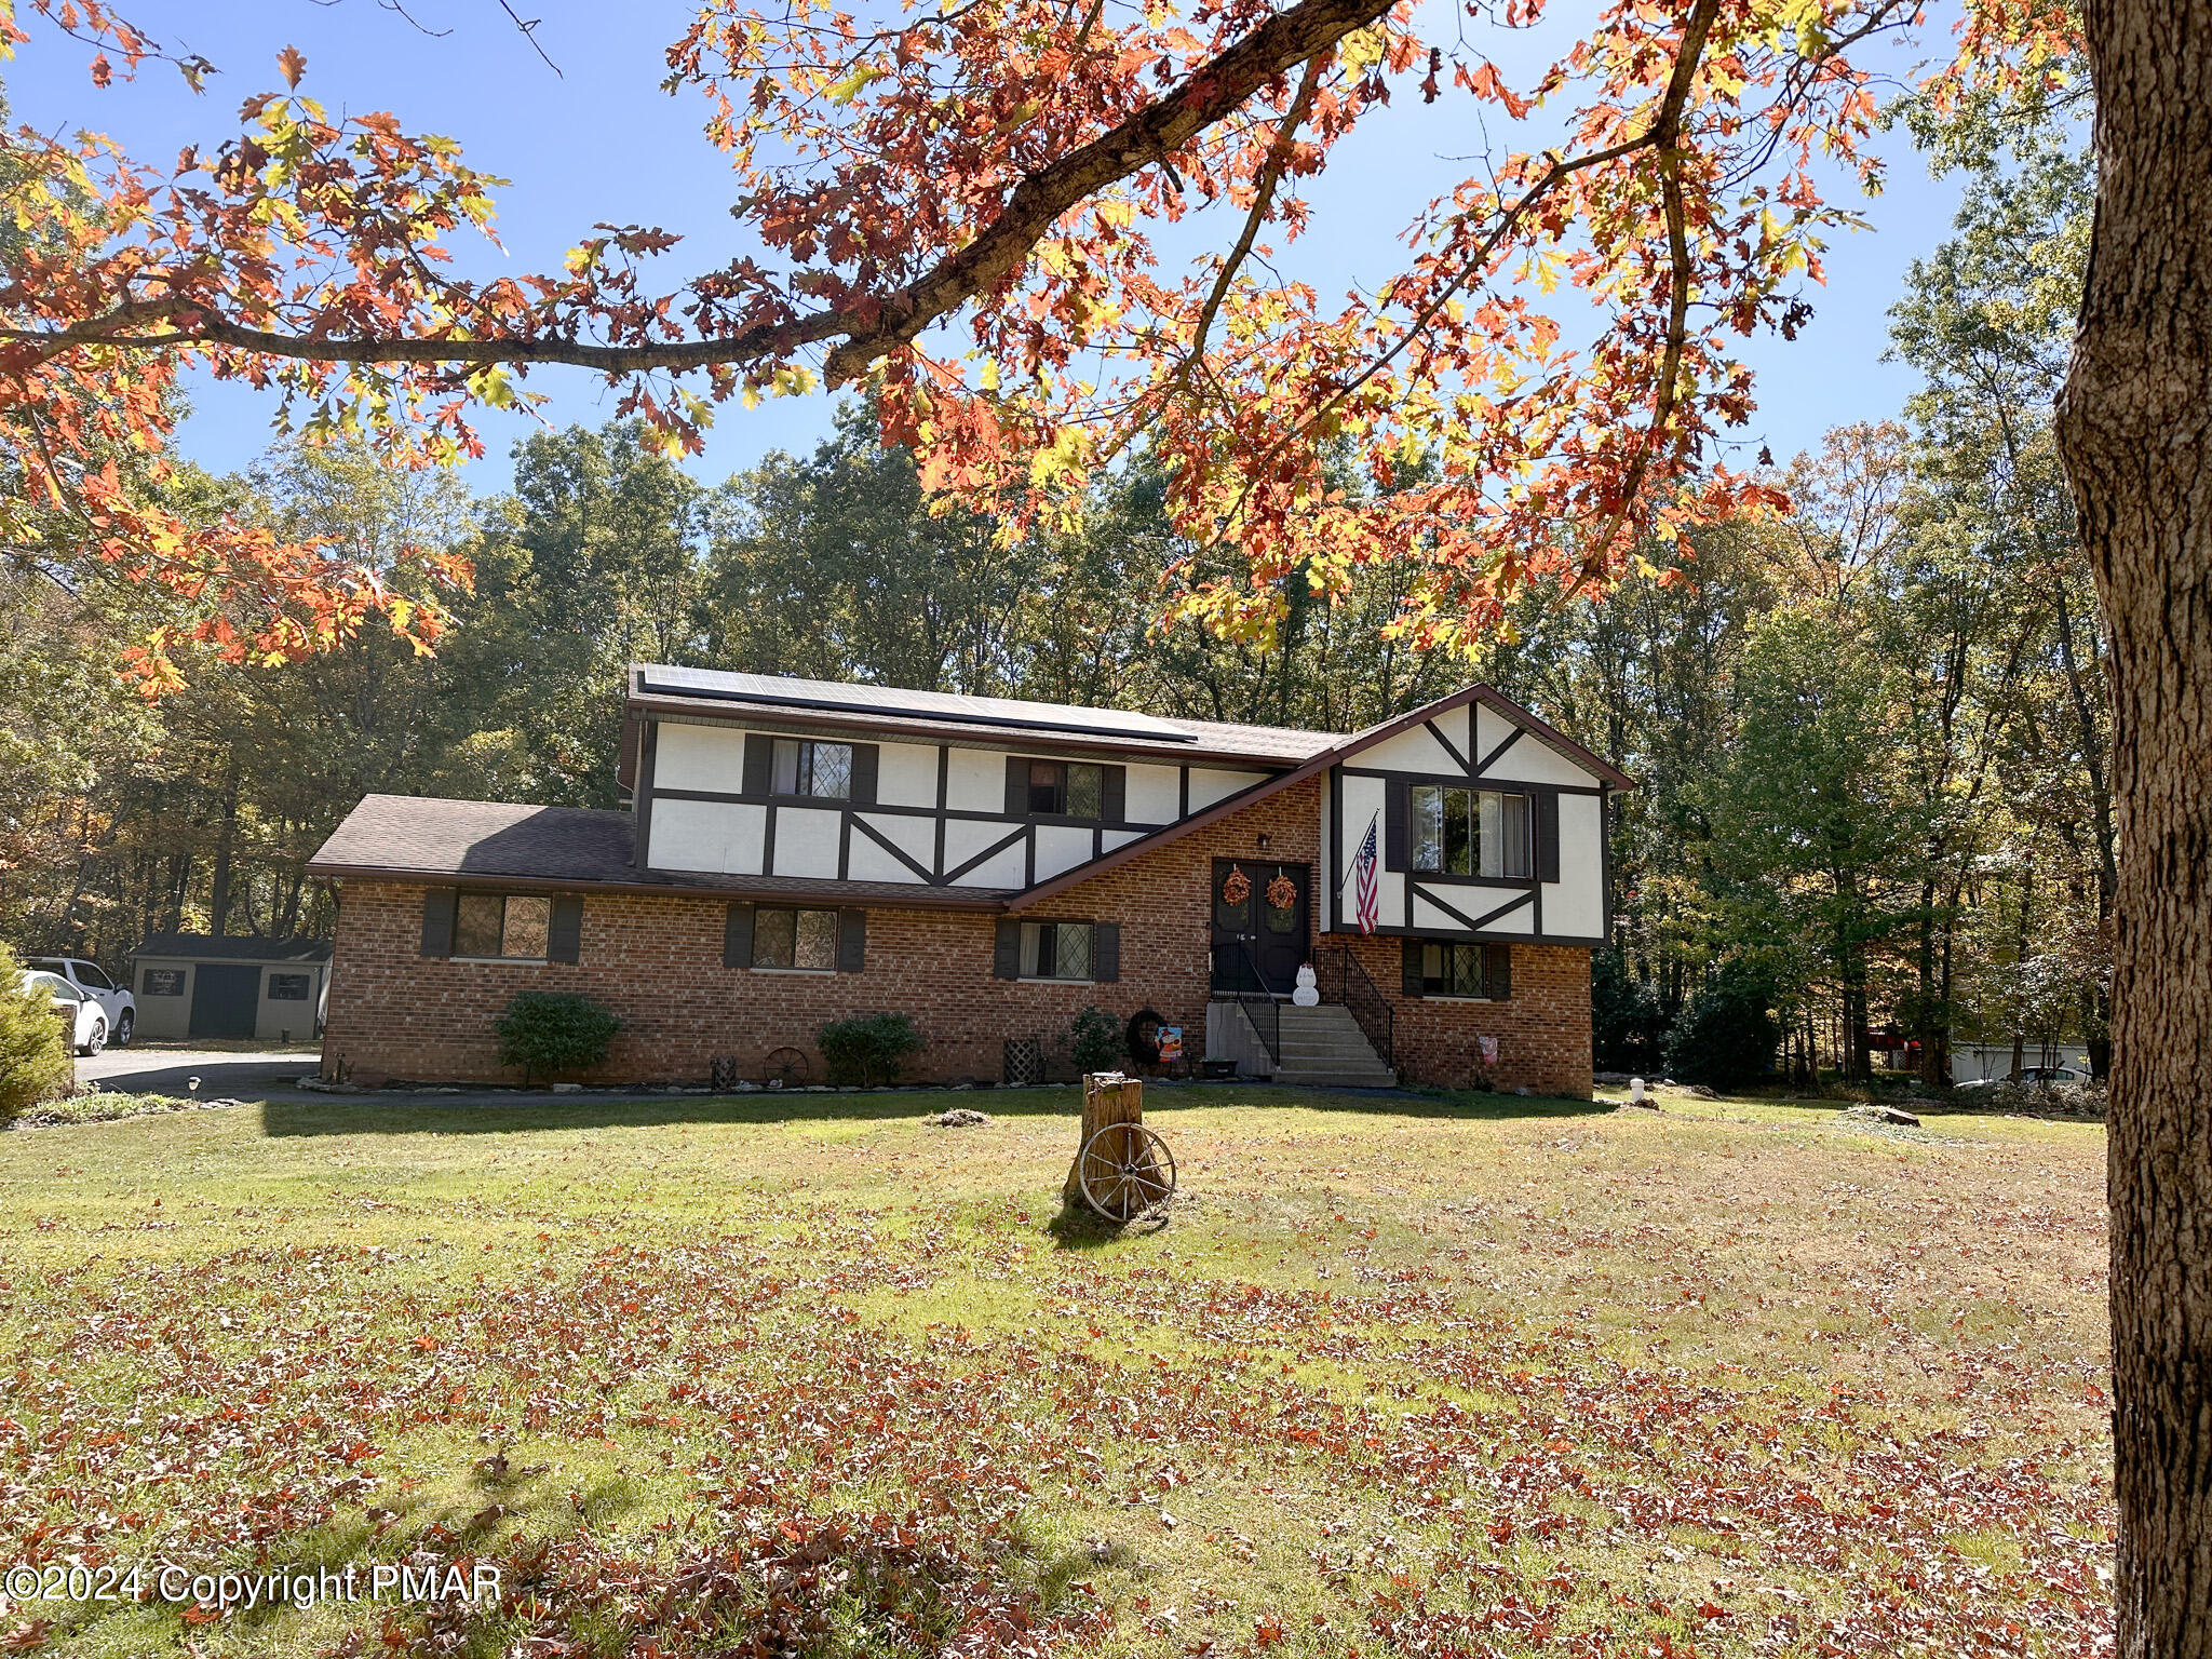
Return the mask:
<svg viewBox="0 0 2212 1659"><path fill-rule="evenodd" d="M460 139L473 166L513 181L498 197L507 252L460 246L465 270L553 268L602 219L681 232L684 243L666 261L670 285L743 248L728 212L728 166L699 135L703 106L659 91L664 51L692 9L668 0L515 0L515 9L542 18L535 38L557 75L498 0L407 0L405 15L380 0L133 0L126 15L223 71L204 97L153 64L135 84L95 91L84 75L88 51L38 22L31 44L7 69L7 91L20 122L49 133L104 131L133 155L168 159L186 144L212 148L237 133L239 102L281 84L274 58L292 44L307 55L301 91L334 111L389 108L411 131ZM1584 11L1553 0L1546 31L1553 40L1506 42L1513 49L1506 69L1537 62ZM1905 73L1909 60L1889 66ZM1387 276L1400 254L1396 237L1413 210L1462 175L1451 157L1480 148L1469 113L1460 95L1431 106L1400 97L1378 113L1310 190L1314 230L1287 268L1325 294ZM1902 133L1887 135L1882 150L1891 177L1885 195L1865 204L1874 230L1843 234L1829 248L1827 285L1812 292L1814 323L1794 343L1761 338L1745 347L1759 372L1745 456L1770 445L1776 458L1787 458L1818 445L1834 425L1893 416L1913 389L1909 369L1880 363L1885 312L1911 261L1949 232L1960 184L1931 179ZM613 392L588 374L538 372L529 385L553 394L542 418L557 425L595 425L613 414ZM215 469L241 467L270 442L268 418L270 405L259 394L199 387L184 453ZM827 422L827 398L768 400L752 411L726 405L690 469L719 480L772 449L812 449ZM524 416L487 414L480 422L487 456L467 469L469 484L502 489L507 451L529 429Z"/></svg>

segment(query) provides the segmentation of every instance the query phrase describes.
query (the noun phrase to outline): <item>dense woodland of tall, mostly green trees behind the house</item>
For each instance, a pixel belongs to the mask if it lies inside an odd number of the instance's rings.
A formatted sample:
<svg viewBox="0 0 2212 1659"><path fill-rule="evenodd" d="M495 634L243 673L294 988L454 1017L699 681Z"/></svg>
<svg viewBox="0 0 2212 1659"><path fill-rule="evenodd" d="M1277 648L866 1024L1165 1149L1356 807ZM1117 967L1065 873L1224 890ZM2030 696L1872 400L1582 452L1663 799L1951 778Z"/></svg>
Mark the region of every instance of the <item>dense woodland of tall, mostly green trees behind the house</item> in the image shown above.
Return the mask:
<svg viewBox="0 0 2212 1659"><path fill-rule="evenodd" d="M305 860L367 792L617 805L639 659L1318 730L1486 679L1644 781L1601 1064L1657 1068L1725 995L1776 1015L1792 1068L1865 1075L1882 1029L1931 1079L1964 1040L2081 1040L2101 1068L2110 714L2051 440L2090 177L2062 148L1964 161L1958 230L1891 312L1922 376L1898 418L1781 469L1792 515L1646 546L1601 602L1524 593L1471 659L1387 637L1405 566L1334 604L1292 575L1245 637L1161 624L1188 549L1141 460L1077 531L1004 538L933 515L854 414L719 487L635 425L533 436L491 500L343 445L192 476L186 507L396 577L460 551L473 591L436 655L206 657L142 701L115 666L164 599L0 553L0 938L119 964L150 931L327 933Z"/></svg>

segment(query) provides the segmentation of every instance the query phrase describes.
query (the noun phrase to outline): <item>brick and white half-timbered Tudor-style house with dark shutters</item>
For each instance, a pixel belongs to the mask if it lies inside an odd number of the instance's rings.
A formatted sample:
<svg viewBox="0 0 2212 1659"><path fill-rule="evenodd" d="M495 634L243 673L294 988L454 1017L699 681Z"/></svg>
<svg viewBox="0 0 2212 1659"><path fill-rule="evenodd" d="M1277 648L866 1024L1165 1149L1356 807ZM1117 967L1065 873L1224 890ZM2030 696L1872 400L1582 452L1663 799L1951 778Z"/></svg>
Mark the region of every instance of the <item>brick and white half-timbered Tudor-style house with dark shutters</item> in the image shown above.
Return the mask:
<svg viewBox="0 0 2212 1659"><path fill-rule="evenodd" d="M325 1075L509 1079L491 1022L546 989L622 1020L584 1082L818 1079L876 1011L909 1077L1013 1082L1099 1006L1285 1082L1590 1093L1632 779L1489 686L1349 737L664 666L624 703L628 810L367 796L332 834Z"/></svg>

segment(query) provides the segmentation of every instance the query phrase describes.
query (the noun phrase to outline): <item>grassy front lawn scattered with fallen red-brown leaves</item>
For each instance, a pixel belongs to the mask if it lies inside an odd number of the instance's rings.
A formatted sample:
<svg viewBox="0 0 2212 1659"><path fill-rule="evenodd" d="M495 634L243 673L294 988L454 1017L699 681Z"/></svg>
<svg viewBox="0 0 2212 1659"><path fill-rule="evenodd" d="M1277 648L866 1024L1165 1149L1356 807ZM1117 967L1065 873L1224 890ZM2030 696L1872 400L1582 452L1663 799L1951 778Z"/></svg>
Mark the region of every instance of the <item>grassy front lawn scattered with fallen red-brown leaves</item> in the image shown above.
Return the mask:
<svg viewBox="0 0 2212 1659"><path fill-rule="evenodd" d="M1071 1091L7 1133L0 1566L500 1593L0 1652L2108 1650L2101 1126L1663 1106L1159 1091L1119 1237Z"/></svg>

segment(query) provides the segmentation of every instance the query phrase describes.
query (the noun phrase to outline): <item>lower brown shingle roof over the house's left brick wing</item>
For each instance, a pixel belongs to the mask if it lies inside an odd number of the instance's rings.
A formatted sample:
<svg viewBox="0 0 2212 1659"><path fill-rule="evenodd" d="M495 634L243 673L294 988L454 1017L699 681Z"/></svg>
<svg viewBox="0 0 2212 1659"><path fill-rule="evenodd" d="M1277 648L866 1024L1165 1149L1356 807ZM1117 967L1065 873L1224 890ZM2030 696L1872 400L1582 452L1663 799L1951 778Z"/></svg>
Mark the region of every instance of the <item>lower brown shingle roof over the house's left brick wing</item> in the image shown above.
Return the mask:
<svg viewBox="0 0 2212 1659"><path fill-rule="evenodd" d="M639 894L872 900L938 909L1000 909L1006 898L1006 889L998 887L639 869L630 863L633 832L628 812L372 794L332 832L307 872L431 883L619 887Z"/></svg>

